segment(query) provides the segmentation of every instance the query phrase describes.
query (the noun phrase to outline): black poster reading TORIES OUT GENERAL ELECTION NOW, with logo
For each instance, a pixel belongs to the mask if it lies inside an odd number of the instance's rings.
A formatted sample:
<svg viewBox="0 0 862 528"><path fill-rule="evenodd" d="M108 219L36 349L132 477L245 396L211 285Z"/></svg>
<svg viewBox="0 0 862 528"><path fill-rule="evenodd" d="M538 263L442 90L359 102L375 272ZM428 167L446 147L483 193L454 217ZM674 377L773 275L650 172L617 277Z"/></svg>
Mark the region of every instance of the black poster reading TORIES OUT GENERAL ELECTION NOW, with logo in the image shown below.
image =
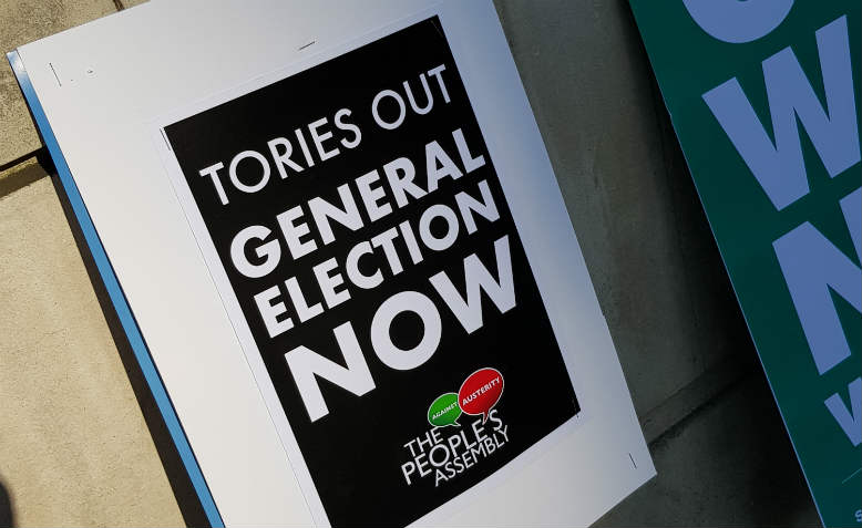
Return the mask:
<svg viewBox="0 0 862 528"><path fill-rule="evenodd" d="M332 525L415 520L579 411L437 17L165 134Z"/></svg>

